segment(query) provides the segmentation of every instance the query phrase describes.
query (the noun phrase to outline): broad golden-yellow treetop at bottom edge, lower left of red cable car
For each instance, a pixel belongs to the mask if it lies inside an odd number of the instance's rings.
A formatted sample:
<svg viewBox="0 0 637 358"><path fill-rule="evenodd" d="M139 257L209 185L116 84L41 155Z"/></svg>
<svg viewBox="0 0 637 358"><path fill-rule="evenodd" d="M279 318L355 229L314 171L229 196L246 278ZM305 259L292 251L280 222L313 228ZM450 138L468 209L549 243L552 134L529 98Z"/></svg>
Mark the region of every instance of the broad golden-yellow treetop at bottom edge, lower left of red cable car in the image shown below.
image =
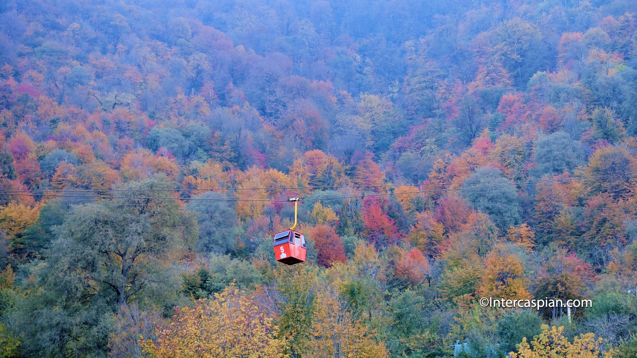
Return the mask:
<svg viewBox="0 0 637 358"><path fill-rule="evenodd" d="M275 338L273 319L252 297L227 287L215 300L175 310L169 326L157 329L157 340L142 341L152 358L280 358L285 338Z"/></svg>

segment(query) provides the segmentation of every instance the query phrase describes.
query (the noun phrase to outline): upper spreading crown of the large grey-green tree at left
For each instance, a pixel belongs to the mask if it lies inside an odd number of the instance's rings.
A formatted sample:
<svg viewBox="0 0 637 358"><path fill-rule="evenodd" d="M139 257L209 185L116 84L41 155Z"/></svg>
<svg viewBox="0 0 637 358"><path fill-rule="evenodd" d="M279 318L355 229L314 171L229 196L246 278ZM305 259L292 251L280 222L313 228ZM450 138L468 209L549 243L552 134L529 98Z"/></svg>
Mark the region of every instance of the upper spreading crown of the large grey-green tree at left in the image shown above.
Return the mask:
<svg viewBox="0 0 637 358"><path fill-rule="evenodd" d="M161 196L171 183L158 176L125 189L128 196ZM118 199L73 208L57 227L57 239L48 255L50 266L62 273L68 284L83 290L111 291L118 306L130 299L143 299L171 287L162 262L179 242L192 235L192 219L175 201ZM174 286L173 286L174 287ZM146 292L146 293L143 293Z"/></svg>

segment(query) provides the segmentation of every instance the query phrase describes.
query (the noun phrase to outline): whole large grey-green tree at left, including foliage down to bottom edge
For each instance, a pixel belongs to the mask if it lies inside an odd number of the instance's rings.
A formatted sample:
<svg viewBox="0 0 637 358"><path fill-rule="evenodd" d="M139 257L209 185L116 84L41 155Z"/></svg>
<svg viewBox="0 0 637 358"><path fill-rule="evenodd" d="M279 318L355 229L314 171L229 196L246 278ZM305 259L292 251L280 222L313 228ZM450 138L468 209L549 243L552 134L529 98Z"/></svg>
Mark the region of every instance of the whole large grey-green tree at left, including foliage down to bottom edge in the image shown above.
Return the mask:
<svg viewBox="0 0 637 358"><path fill-rule="evenodd" d="M124 186L124 196L172 187L164 176ZM138 191L139 190L139 191ZM83 204L55 227L47 261L25 267L10 320L27 357L105 357L113 312L124 304L160 306L178 299L168 254L194 235L175 201L115 199ZM45 335L41 333L45 332Z"/></svg>

